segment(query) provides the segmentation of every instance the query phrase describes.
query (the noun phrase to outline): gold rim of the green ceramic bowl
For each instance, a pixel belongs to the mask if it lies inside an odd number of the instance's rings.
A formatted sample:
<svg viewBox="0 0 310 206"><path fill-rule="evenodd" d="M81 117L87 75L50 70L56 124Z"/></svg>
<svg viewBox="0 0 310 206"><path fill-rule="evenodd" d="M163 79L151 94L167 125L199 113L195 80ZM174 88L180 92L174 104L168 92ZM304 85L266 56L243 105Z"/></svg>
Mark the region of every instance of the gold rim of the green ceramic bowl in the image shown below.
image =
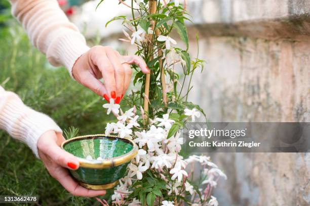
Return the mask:
<svg viewBox="0 0 310 206"><path fill-rule="evenodd" d="M93 168L93 169L104 169L104 168L111 168L111 167L117 167L120 165L123 165L124 163L130 162L132 159L134 159L138 153L138 146L137 144L128 138L121 138L119 136L114 135L105 135L105 134L93 134L93 135L84 135L84 136L78 136L73 137L71 139L67 139L64 142L61 143L61 148L63 146L71 141L81 140L81 139L89 139L92 137L112 137L112 138L118 138L118 139L125 139L128 140L130 143L132 143L133 148L125 155L121 155L114 158L104 159L102 161L96 160L96 161L88 161L84 158L78 158L80 162L80 167L83 168Z"/></svg>

